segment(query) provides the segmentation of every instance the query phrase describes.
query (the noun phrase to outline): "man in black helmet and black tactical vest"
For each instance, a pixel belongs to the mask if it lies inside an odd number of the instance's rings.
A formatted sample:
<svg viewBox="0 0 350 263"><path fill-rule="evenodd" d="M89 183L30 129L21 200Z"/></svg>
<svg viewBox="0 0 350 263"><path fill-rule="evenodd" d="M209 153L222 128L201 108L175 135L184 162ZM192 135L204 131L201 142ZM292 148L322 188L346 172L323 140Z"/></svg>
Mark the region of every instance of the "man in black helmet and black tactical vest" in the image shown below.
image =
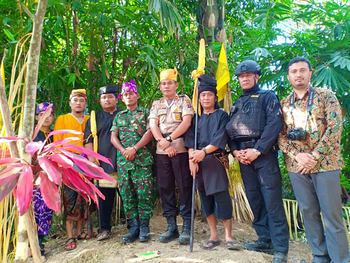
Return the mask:
<svg viewBox="0 0 350 263"><path fill-rule="evenodd" d="M247 199L254 214L253 225L258 234L254 243L244 249L274 254L273 263L287 262L288 226L282 201L282 179L278 166L278 134L282 113L278 97L256 84L260 66L253 60L241 62L235 75L243 95L230 110L226 131L229 146L239 160Z"/></svg>

